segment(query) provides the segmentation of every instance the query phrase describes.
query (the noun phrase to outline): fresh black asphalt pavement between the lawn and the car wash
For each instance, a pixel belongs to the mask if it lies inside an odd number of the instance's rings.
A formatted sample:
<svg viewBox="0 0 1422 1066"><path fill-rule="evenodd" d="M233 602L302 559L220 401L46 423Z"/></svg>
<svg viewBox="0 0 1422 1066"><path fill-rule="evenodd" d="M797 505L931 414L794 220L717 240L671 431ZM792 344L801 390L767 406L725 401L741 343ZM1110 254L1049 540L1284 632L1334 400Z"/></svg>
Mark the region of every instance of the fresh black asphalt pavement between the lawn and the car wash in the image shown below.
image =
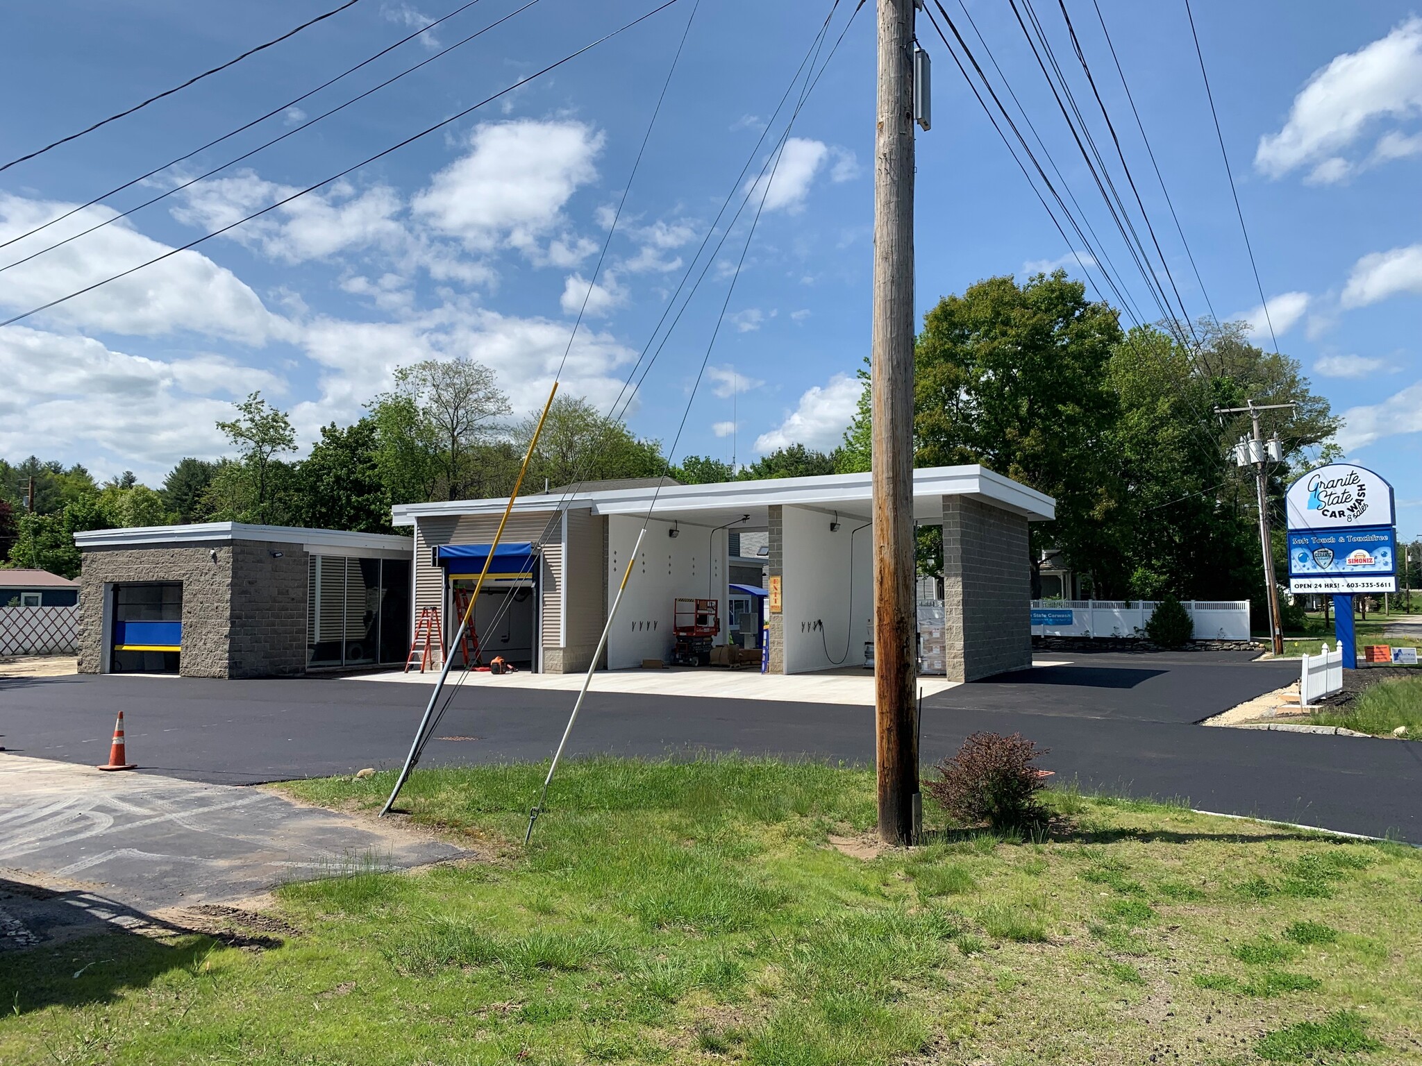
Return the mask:
<svg viewBox="0 0 1422 1066"><path fill-rule="evenodd" d="M1422 843L1422 745L1196 725L1297 677L1297 664L1249 659L1095 654L961 685L924 701L923 759L950 753L978 729L1021 732L1051 749L1042 762L1058 780L1075 777L1088 789ZM158 773L229 785L351 773L397 766L427 699L424 685L338 678L13 679L0 681L0 745L102 762L122 709L129 758ZM462 689L424 765L546 759L572 699ZM594 685L570 745L574 755L700 749L869 762L873 711L599 694Z"/></svg>

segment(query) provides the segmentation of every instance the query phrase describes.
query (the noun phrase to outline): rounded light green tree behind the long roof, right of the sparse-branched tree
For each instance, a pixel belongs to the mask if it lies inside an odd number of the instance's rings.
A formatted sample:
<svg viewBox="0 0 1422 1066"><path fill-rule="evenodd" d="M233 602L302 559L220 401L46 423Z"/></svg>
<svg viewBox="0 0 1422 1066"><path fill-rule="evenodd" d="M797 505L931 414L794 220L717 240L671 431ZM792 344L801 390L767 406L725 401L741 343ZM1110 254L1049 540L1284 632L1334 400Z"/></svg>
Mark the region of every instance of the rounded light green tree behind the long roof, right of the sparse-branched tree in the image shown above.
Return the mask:
<svg viewBox="0 0 1422 1066"><path fill-rule="evenodd" d="M515 426L515 452L522 456L538 426L529 415ZM515 472L518 461L515 459ZM667 473L667 461L657 441L644 441L621 419L604 418L586 399L559 397L549 408L528 485L542 488L609 478L658 478ZM512 489L512 485L508 486Z"/></svg>

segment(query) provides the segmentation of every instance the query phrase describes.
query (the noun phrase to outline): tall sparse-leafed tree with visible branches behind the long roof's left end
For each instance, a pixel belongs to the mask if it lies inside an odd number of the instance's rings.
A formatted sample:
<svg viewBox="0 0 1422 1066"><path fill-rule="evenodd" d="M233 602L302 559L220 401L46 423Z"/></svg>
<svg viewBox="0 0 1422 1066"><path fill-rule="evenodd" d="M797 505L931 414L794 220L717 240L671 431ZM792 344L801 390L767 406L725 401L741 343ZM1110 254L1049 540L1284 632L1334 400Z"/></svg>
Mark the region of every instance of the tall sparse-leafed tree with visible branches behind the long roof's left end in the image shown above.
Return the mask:
<svg viewBox="0 0 1422 1066"><path fill-rule="evenodd" d="M374 404L398 399L408 401L410 429L434 456L438 483L432 488L448 500L469 496L479 482L475 452L498 436L498 419L512 411L493 371L464 355L422 360L397 368L394 391Z"/></svg>

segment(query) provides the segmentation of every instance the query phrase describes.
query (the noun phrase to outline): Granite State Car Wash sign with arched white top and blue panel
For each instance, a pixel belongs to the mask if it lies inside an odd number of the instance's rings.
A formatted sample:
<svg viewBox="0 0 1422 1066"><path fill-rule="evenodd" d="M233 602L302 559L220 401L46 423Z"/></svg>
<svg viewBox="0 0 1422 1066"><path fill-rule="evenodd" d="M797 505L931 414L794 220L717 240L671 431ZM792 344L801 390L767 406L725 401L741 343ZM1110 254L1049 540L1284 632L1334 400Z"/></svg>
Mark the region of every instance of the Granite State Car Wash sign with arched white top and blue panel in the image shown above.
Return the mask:
<svg viewBox="0 0 1422 1066"><path fill-rule="evenodd" d="M1288 486L1291 593L1395 593L1392 486L1372 470L1332 463Z"/></svg>

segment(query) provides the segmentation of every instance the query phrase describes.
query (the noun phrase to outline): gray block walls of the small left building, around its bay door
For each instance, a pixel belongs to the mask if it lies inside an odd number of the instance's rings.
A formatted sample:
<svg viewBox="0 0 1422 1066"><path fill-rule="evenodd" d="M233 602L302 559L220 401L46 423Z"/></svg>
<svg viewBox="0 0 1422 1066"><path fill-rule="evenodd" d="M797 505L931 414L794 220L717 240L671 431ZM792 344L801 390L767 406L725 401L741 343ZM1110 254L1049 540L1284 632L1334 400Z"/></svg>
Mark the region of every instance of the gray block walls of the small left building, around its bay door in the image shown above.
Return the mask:
<svg viewBox="0 0 1422 1066"><path fill-rule="evenodd" d="M104 647L105 584L181 581L179 674L192 678L303 674L307 560L299 544L255 540L85 549L80 574L80 672L102 672L109 654ZM235 561L242 576L236 583Z"/></svg>

